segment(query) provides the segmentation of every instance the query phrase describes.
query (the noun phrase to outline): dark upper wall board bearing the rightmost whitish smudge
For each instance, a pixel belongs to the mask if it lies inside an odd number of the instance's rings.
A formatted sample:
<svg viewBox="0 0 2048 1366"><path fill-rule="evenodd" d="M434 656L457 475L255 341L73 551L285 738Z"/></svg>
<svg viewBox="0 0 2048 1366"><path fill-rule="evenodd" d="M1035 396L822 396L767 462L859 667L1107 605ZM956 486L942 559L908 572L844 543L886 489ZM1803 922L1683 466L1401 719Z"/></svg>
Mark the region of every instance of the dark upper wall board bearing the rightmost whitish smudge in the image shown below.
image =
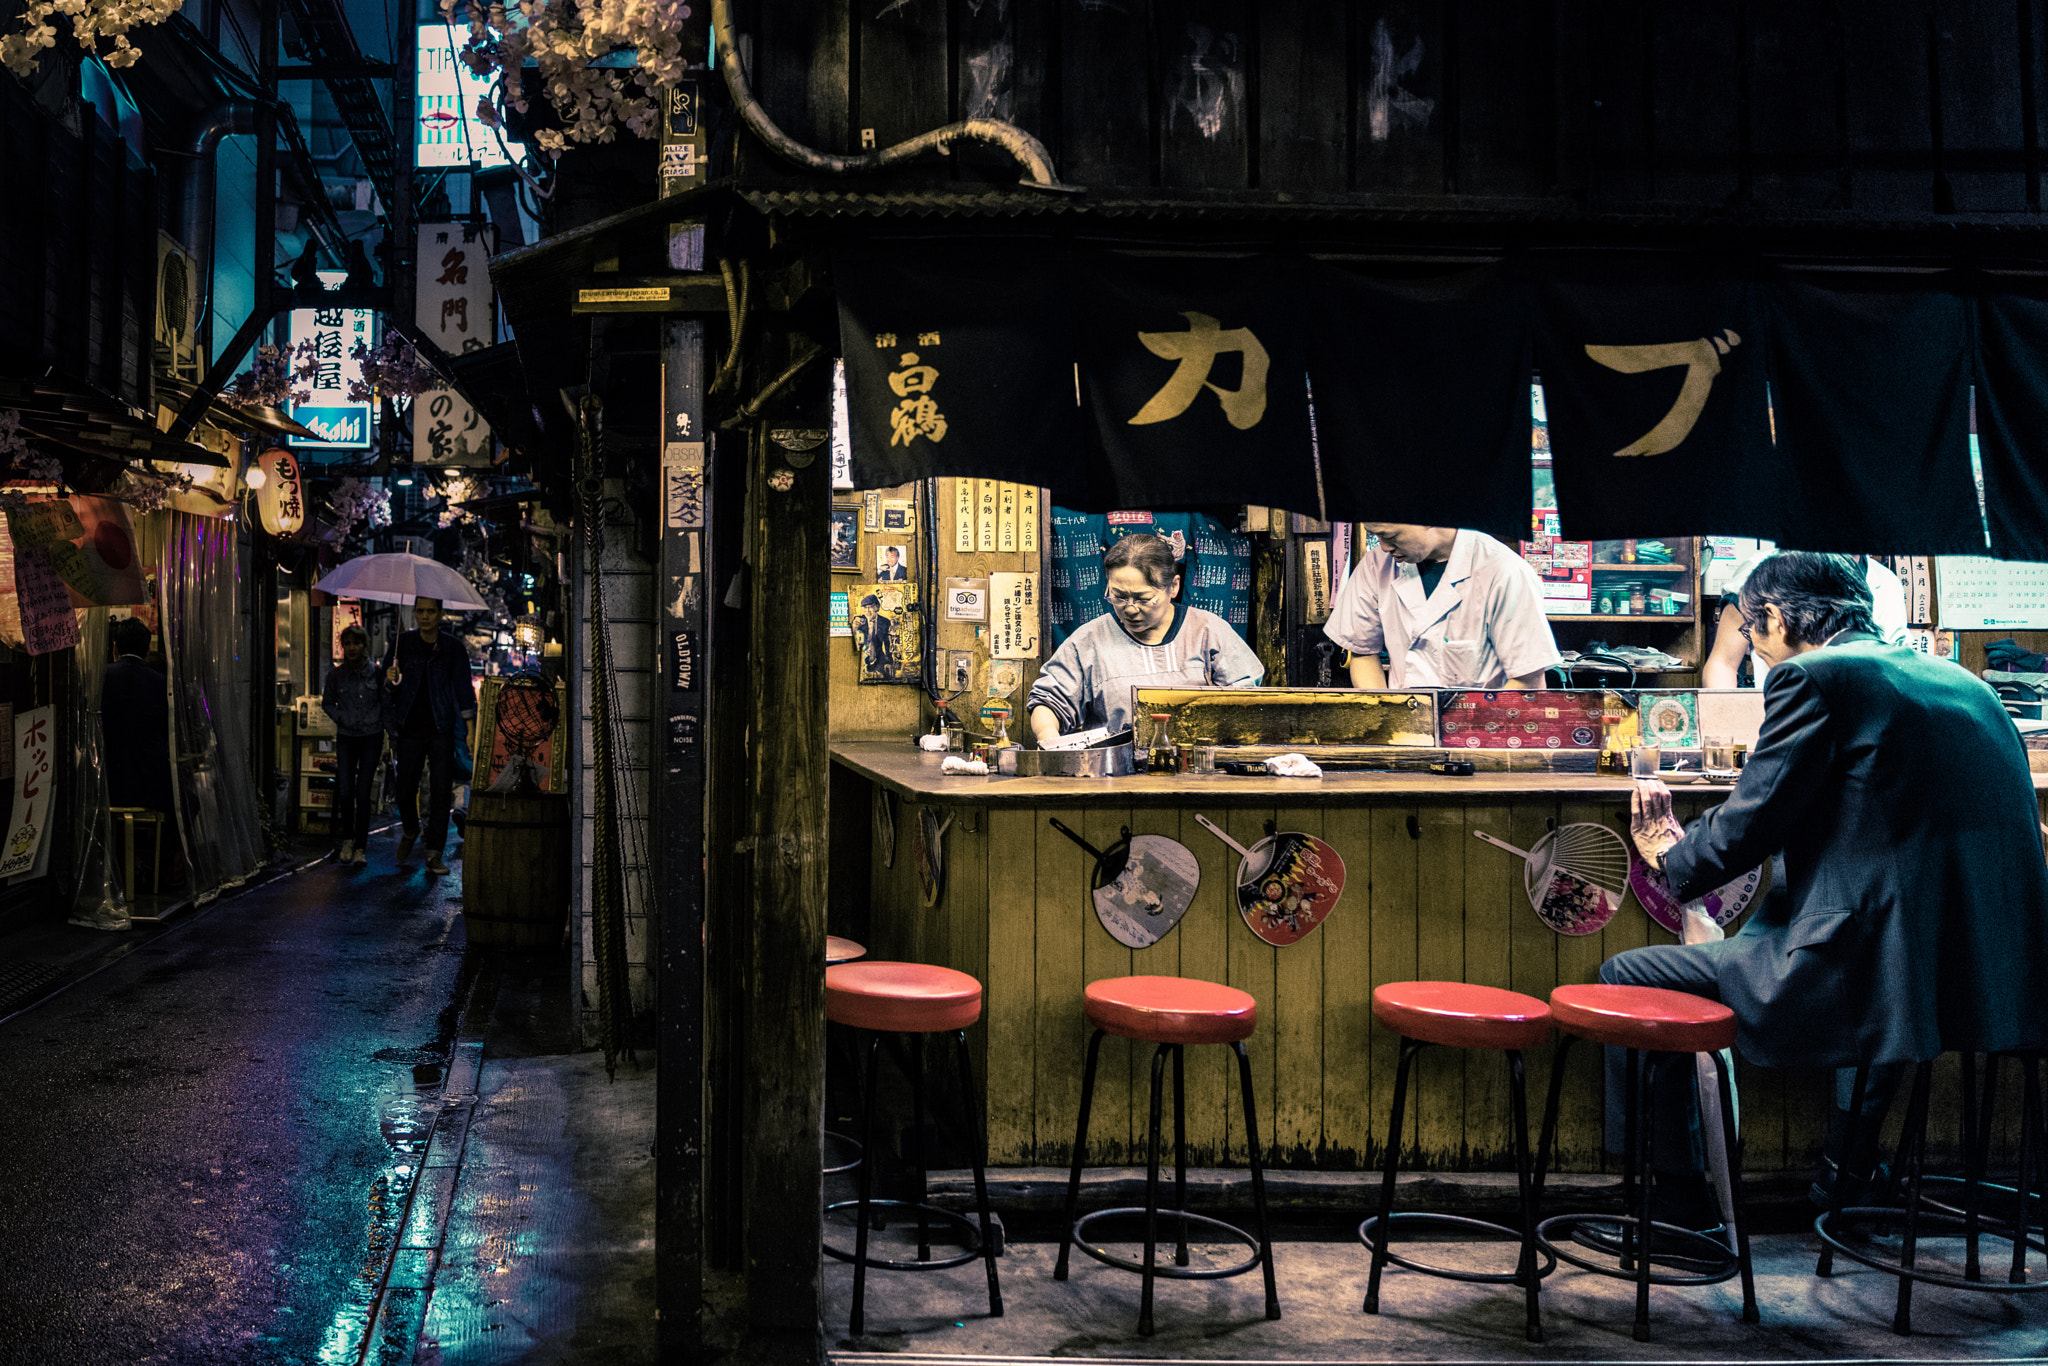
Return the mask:
<svg viewBox="0 0 2048 1366"><path fill-rule="evenodd" d="M1444 6L1384 0L1356 6L1352 184L1389 195L1442 195L1446 80L1454 70ZM1268 39L1270 43L1272 39ZM1268 176L1266 186L1280 180Z"/></svg>

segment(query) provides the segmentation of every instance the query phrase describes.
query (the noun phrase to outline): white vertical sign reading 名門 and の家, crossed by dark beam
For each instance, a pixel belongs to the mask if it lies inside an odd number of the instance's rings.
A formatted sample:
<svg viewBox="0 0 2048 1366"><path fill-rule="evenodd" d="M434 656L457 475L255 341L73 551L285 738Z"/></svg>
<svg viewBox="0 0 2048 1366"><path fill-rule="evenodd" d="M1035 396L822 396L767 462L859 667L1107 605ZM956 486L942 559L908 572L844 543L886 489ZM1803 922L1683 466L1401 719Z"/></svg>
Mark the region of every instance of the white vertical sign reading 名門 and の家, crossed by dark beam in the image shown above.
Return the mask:
<svg viewBox="0 0 2048 1366"><path fill-rule="evenodd" d="M451 356L483 350L496 338L492 274L496 229L487 223L422 223L414 322ZM418 465L489 465L492 428L455 389L428 389L412 401L412 459Z"/></svg>

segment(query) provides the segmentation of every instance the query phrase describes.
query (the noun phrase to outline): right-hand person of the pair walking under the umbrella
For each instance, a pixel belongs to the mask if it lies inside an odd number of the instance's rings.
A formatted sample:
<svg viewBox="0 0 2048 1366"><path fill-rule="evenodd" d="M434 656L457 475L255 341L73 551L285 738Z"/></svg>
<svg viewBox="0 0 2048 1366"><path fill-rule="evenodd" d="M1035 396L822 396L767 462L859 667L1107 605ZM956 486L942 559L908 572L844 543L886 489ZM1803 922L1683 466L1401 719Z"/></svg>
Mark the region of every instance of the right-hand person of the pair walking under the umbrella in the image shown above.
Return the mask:
<svg viewBox="0 0 2048 1366"><path fill-rule="evenodd" d="M440 633L440 598L416 598L414 629L385 655L385 729L397 752L397 813L403 834L397 862L426 838L426 870L449 870L440 852L449 842L449 807L455 799L455 727L469 727L477 713L469 688L469 651L453 635ZM426 772L426 813L422 829L420 774Z"/></svg>

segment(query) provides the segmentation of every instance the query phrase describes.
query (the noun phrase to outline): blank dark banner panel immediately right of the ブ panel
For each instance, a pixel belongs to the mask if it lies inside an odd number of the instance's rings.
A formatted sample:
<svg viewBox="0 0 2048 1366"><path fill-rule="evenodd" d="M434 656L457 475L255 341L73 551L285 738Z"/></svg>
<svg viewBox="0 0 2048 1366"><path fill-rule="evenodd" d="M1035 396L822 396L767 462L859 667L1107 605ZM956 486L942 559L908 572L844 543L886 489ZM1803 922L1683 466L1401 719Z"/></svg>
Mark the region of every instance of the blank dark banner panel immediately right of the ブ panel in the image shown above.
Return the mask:
<svg viewBox="0 0 2048 1366"><path fill-rule="evenodd" d="M1982 555L1968 301L1786 281L1769 309L1786 498L1778 526L1757 535L1802 551Z"/></svg>

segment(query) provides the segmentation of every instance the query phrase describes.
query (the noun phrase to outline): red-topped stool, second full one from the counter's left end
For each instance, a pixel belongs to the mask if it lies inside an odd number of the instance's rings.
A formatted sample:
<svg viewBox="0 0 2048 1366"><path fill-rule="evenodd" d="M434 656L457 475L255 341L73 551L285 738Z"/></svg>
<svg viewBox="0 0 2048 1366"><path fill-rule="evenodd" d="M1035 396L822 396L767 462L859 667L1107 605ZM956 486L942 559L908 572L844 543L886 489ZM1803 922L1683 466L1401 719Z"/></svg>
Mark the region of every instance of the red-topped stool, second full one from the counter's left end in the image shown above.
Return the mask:
<svg viewBox="0 0 2048 1366"><path fill-rule="evenodd" d="M1145 1278L1139 1296L1139 1333L1153 1333L1153 1278L1169 1280L1225 1280L1243 1276L1253 1266L1266 1270L1266 1317L1280 1317L1280 1294L1274 1288L1274 1245L1266 1233L1266 1167L1260 1161L1260 1120L1251 1098L1251 1057L1245 1053L1245 1038L1260 1022L1260 1006L1237 987L1192 977L1112 977L1087 985L1087 1022L1096 1026L1087 1040L1087 1071L1081 1079L1081 1120L1073 1133L1073 1171L1067 1178L1067 1229L1059 1239L1059 1262L1053 1266L1053 1280L1067 1280L1067 1251L1079 1243L1081 1251L1126 1272ZM1145 1208L1096 1210L1081 1216L1081 1165L1087 1157L1087 1110L1096 1098L1096 1061L1102 1057L1102 1036L1137 1038L1159 1044L1153 1053L1153 1094L1151 1126L1147 1130L1149 1165L1145 1173ZM1231 1044L1237 1053L1237 1079L1245 1100L1245 1149L1251 1155L1251 1204L1257 1210L1257 1237L1221 1219L1188 1212L1188 1094L1184 1085L1182 1051L1188 1044ZM1174 1059L1174 1206L1167 1214L1180 1229L1174 1266L1159 1266L1159 1102L1165 1079L1165 1061ZM1087 1241L1087 1225L1098 1219L1145 1214L1145 1262L1128 1262L1096 1247ZM1188 1225L1200 1225L1221 1233L1227 1241L1243 1243L1251 1255L1225 1268L1188 1266Z"/></svg>

